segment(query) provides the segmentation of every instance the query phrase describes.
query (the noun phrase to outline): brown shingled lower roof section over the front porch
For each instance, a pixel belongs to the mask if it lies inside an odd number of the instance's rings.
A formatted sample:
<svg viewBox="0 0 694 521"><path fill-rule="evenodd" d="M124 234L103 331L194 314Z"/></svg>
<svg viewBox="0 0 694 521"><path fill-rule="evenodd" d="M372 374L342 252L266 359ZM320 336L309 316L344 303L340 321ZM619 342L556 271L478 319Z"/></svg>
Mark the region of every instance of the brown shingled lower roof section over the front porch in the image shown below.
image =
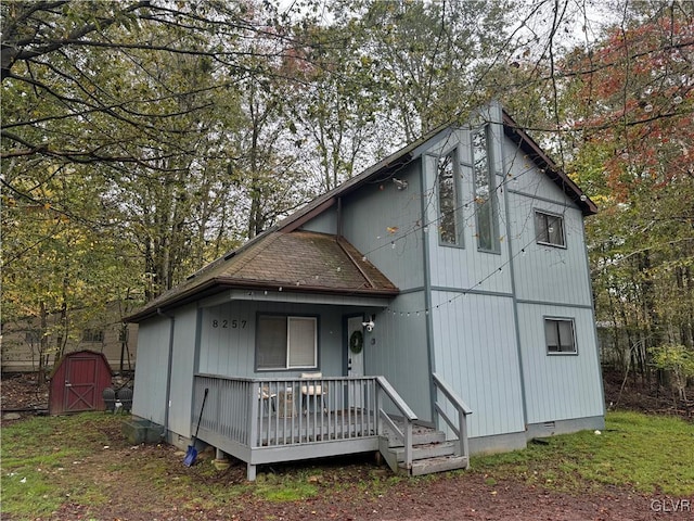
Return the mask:
<svg viewBox="0 0 694 521"><path fill-rule="evenodd" d="M394 296L388 278L349 242L311 231L271 231L231 252L127 317L138 322L157 309L226 289Z"/></svg>

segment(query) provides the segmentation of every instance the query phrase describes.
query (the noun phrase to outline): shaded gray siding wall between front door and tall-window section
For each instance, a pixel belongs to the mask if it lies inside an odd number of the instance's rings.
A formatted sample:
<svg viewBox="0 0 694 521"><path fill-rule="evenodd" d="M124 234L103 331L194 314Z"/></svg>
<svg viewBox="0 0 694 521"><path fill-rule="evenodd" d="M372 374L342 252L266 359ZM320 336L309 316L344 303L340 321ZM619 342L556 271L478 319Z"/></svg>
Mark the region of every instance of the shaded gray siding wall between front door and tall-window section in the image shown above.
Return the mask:
<svg viewBox="0 0 694 521"><path fill-rule="evenodd" d="M365 371L385 376L417 417L430 421L420 168L414 161L346 198L343 231L403 292L376 315L373 333L364 334ZM408 188L398 190L393 178Z"/></svg>

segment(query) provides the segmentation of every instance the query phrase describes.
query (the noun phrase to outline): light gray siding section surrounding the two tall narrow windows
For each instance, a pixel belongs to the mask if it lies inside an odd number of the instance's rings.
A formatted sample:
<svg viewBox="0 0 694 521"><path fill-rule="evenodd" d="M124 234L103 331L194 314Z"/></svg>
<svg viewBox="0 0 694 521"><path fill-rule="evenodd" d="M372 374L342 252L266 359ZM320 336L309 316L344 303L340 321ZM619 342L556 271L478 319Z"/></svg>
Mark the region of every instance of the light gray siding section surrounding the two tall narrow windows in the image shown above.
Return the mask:
<svg viewBox="0 0 694 521"><path fill-rule="evenodd" d="M499 114L497 114L499 117ZM437 223L437 158L458 149L462 247L439 244L438 230L430 226L432 325L435 368L467 403L471 437L522 432L525 429L518 347L512 298L509 249L505 246L502 135L492 125L491 168L496 176L499 219L499 253L477 247L471 136L459 129L437 143L424 158L429 201L429 223Z"/></svg>

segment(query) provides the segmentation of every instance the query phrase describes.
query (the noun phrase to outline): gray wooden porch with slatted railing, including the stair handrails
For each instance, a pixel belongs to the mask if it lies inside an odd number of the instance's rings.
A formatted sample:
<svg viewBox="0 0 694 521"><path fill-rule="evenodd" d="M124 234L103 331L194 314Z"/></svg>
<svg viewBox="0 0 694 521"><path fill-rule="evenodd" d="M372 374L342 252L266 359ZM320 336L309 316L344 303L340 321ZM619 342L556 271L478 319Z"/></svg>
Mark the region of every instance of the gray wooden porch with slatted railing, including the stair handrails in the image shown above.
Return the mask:
<svg viewBox="0 0 694 521"><path fill-rule="evenodd" d="M416 416L384 377L278 380L196 374L193 429L205 390L209 391L198 439L245 461L248 480L255 480L258 465L376 450L394 470L411 472L417 441L432 443L417 431ZM457 463L466 467L464 423L470 412L462 401L453 409L457 423L442 418L455 433L463 433L451 445L451 455L463 457Z"/></svg>

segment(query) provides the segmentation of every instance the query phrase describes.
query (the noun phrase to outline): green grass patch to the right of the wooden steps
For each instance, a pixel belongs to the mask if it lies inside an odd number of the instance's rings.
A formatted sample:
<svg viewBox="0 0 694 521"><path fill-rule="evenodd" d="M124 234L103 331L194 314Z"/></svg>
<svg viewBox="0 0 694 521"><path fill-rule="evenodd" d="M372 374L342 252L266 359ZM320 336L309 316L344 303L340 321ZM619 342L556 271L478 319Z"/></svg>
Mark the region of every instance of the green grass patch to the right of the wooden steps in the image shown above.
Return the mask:
<svg viewBox="0 0 694 521"><path fill-rule="evenodd" d="M611 412L601 434L579 432L530 443L527 449L476 457L488 480L579 493L604 485L645 494L694 495L694 427L679 418Z"/></svg>

